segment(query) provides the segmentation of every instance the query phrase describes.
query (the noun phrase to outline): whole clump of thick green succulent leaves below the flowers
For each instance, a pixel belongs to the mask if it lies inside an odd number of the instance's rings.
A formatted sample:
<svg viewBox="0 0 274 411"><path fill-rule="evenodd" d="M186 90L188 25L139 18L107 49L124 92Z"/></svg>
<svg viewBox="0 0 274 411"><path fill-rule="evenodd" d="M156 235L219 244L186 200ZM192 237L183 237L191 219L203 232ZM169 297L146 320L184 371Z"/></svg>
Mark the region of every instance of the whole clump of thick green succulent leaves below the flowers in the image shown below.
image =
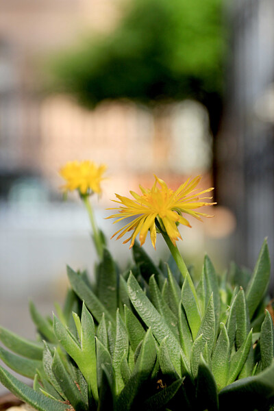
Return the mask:
<svg viewBox="0 0 274 411"><path fill-rule="evenodd" d="M0 367L1 382L15 395L39 411L274 406L274 327L263 308L266 242L248 281L236 266L218 277L206 256L198 284L188 273L182 282L138 245L129 275L116 273L106 249L98 273L90 284L68 268L73 291L64 309L57 307L60 319L44 319L31 303L43 345L0 329L7 348L0 347L1 360L34 379L30 388Z"/></svg>

